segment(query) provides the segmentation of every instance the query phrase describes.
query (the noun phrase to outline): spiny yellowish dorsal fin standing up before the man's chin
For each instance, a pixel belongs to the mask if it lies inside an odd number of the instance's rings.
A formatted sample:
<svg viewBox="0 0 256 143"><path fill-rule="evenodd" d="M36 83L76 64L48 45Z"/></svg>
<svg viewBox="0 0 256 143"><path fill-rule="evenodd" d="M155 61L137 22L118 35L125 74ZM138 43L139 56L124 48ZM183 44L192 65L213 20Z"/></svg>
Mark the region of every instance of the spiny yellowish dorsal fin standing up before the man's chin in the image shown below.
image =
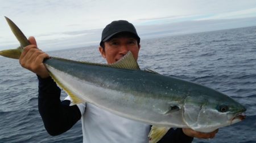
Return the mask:
<svg viewBox="0 0 256 143"><path fill-rule="evenodd" d="M134 59L133 53L131 53L131 51L128 51L128 53L125 56L123 56L122 59L119 59L117 62L109 64L109 67L139 70L139 65Z"/></svg>

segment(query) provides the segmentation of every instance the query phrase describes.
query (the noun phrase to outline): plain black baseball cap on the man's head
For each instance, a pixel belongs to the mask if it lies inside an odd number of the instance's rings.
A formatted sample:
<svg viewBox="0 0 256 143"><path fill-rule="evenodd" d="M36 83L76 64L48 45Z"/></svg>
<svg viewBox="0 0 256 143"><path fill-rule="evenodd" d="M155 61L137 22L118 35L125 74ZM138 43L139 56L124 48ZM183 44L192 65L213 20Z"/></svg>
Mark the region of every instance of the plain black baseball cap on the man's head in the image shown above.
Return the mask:
<svg viewBox="0 0 256 143"><path fill-rule="evenodd" d="M112 21L112 23L106 25L106 27L103 29L100 45L102 46L103 42L108 41L112 36L120 32L132 33L137 39L138 44L141 41L141 38L139 38L133 24L129 23L126 20L117 20Z"/></svg>

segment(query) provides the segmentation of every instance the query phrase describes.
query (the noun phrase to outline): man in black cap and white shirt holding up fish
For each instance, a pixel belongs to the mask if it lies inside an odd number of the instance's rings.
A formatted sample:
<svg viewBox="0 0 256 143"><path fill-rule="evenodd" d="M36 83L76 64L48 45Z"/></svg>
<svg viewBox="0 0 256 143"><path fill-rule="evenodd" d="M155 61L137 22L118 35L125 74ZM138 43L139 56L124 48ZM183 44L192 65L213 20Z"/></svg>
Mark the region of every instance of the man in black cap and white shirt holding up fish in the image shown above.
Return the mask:
<svg viewBox="0 0 256 143"><path fill-rule="evenodd" d="M39 112L44 126L52 136L68 131L79 119L82 122L84 142L148 142L151 126L122 118L104 111L90 103L69 106L69 97L60 101L60 89L49 77L43 64L49 55L39 50L34 37L20 56L22 67L36 73L39 79ZM133 24L125 20L113 21L102 31L100 53L111 64L121 59L128 51L138 59L140 38ZM192 142L193 137L213 138L217 131L200 133L192 129L170 129L159 142Z"/></svg>

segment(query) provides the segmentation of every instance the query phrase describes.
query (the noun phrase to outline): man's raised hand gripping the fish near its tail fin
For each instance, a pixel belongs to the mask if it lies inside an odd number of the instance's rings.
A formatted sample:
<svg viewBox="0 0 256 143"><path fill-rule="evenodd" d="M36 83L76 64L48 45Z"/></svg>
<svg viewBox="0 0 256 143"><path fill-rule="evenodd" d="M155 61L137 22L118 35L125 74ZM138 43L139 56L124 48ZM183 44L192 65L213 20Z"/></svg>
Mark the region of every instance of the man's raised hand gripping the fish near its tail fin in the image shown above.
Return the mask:
<svg viewBox="0 0 256 143"><path fill-rule="evenodd" d="M49 73L43 64L45 58L50 58L49 55L38 49L34 37L29 37L28 41L30 41L31 45L24 47L19 58L20 65L42 78L49 77Z"/></svg>

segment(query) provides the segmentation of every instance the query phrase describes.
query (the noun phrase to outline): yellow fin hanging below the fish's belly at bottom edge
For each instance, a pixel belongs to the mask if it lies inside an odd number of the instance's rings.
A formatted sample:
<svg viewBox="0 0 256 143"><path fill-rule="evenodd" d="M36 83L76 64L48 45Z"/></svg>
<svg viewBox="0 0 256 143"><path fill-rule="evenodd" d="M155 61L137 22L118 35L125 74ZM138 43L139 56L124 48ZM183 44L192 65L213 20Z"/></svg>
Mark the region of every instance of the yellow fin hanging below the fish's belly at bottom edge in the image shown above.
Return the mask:
<svg viewBox="0 0 256 143"><path fill-rule="evenodd" d="M161 140L161 138L164 135L166 135L169 129L170 127L156 127L153 125L151 127L150 133L148 134L149 142L150 143L158 142L159 140Z"/></svg>

